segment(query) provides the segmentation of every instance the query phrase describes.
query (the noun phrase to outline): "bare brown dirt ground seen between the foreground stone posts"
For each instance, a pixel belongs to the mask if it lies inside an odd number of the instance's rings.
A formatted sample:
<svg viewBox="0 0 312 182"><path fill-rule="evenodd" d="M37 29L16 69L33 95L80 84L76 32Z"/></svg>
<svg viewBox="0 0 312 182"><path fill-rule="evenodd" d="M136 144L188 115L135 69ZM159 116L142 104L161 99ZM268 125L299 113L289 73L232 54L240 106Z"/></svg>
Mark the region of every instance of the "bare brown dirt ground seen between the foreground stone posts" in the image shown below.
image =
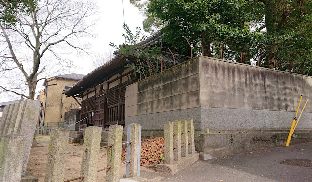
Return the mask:
<svg viewBox="0 0 312 182"><path fill-rule="evenodd" d="M30 171L33 175L39 178L39 182L44 181L45 167L48 153L49 143L40 143L42 141L49 141L49 136L36 136L39 144L31 148L30 156L27 164L27 170ZM72 178L77 178L80 176L80 167L83 153L83 145L69 143L67 149L67 158L66 158L66 168L65 168L65 179L69 180ZM98 162L98 170L106 167L106 155L107 149L100 149L100 156ZM120 176L125 174L125 165L121 165ZM141 166L143 167L143 166ZM106 176L106 171L98 172L97 182L103 182Z"/></svg>

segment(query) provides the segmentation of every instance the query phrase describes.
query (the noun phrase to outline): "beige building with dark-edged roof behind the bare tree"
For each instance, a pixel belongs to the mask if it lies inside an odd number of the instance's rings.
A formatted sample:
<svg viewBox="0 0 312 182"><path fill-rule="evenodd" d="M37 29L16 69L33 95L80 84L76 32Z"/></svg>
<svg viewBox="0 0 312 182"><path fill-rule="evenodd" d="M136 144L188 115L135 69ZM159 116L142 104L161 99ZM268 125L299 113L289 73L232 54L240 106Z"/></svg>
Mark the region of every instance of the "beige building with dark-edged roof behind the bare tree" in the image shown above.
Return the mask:
<svg viewBox="0 0 312 182"><path fill-rule="evenodd" d="M42 101L40 126L63 126L65 112L80 107L81 99L77 102L73 97L66 97L63 93L83 76L83 74L73 73L54 76L45 80L43 83L45 88L40 91L40 95L37 97L38 100ZM41 100L42 94L43 100Z"/></svg>

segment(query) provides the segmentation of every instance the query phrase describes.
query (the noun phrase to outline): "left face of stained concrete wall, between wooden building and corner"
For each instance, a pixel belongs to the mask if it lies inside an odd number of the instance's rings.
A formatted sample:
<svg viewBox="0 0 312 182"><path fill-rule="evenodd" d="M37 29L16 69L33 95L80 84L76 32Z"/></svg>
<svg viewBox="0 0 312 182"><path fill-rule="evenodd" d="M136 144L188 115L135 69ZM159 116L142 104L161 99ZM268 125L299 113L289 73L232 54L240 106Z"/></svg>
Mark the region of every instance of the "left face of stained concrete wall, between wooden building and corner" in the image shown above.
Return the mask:
<svg viewBox="0 0 312 182"><path fill-rule="evenodd" d="M199 86L196 59L128 86L125 125L139 123L142 130L159 130L166 121L193 118L199 129Z"/></svg>

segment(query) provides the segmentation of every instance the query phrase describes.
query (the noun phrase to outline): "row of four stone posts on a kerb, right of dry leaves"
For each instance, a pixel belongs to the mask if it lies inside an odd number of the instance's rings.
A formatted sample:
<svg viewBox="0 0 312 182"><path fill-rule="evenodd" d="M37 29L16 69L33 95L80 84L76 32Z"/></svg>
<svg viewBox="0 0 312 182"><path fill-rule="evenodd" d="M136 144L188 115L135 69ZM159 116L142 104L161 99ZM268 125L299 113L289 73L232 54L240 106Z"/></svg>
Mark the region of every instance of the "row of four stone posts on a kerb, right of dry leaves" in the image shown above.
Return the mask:
<svg viewBox="0 0 312 182"><path fill-rule="evenodd" d="M193 119L166 122L164 126L165 164L181 161L195 153Z"/></svg>

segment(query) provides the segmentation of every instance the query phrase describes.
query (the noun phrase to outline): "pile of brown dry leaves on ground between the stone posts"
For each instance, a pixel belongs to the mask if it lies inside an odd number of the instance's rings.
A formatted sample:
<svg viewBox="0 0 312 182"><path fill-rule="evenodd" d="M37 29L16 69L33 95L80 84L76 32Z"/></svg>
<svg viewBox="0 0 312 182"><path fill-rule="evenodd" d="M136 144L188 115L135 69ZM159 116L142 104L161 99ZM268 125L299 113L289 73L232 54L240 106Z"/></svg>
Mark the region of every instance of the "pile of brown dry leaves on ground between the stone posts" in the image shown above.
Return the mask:
<svg viewBox="0 0 312 182"><path fill-rule="evenodd" d="M164 137L150 137L141 142L141 165L164 162ZM122 162L126 161L126 147L122 150Z"/></svg>

